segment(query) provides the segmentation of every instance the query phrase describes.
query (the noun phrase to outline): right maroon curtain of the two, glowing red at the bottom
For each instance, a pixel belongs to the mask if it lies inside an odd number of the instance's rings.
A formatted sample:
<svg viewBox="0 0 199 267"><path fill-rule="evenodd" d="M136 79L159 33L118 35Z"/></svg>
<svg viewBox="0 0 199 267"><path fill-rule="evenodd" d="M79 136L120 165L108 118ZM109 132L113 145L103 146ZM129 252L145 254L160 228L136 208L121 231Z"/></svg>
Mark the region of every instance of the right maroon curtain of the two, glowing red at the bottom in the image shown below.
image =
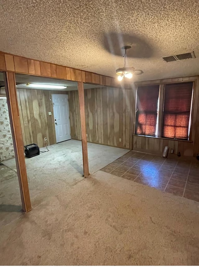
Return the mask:
<svg viewBox="0 0 199 267"><path fill-rule="evenodd" d="M193 83L165 85L163 137L188 140Z"/></svg>

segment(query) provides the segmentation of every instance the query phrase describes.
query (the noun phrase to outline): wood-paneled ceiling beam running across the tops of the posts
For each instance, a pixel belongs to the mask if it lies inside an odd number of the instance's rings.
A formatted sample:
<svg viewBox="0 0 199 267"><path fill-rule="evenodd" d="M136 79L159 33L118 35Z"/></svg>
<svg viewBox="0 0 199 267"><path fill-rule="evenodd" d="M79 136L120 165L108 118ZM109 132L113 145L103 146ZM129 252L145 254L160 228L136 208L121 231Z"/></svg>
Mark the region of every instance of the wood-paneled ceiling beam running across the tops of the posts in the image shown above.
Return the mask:
<svg viewBox="0 0 199 267"><path fill-rule="evenodd" d="M121 84L124 85L124 82L121 83L118 81L118 79L113 77L11 55L4 52L0 52L0 71L34 74L37 76L59 78L76 82L94 83L105 86L120 87ZM126 83L125 87L128 86L130 86L130 84Z"/></svg>

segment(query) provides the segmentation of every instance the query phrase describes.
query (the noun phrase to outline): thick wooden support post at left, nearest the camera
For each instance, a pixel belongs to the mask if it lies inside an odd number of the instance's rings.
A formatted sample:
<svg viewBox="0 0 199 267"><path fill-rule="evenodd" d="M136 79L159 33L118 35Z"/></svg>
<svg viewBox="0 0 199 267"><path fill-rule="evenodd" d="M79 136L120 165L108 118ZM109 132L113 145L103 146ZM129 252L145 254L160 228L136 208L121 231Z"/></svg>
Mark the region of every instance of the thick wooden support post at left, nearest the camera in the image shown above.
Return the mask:
<svg viewBox="0 0 199 267"><path fill-rule="evenodd" d="M16 96L15 74L13 72L5 72L4 81L6 86L6 96L10 117L10 126L12 131L12 140L15 151L16 169L21 193L22 210L23 212L28 212L32 208L30 203L28 179L25 167L24 144Z"/></svg>

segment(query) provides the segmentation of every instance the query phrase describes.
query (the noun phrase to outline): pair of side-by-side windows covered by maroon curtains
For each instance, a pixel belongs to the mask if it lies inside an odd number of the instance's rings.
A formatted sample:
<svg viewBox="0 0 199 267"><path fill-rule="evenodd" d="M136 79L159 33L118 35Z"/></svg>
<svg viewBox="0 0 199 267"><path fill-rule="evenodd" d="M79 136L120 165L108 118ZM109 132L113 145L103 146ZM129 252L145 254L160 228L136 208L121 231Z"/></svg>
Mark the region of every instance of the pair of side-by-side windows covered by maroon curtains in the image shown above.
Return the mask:
<svg viewBox="0 0 199 267"><path fill-rule="evenodd" d="M139 86L135 134L188 140L192 94L192 82Z"/></svg>

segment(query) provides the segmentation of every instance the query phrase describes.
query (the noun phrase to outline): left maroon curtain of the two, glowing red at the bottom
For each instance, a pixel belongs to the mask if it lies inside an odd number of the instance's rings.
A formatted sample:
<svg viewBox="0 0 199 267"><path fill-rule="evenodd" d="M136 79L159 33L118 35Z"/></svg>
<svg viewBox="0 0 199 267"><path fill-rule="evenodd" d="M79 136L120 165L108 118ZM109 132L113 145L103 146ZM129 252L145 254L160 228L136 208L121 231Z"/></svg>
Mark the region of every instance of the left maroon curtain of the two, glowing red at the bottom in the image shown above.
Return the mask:
<svg viewBox="0 0 199 267"><path fill-rule="evenodd" d="M157 108L159 85L139 86L137 88L137 135L155 136L157 122Z"/></svg>

